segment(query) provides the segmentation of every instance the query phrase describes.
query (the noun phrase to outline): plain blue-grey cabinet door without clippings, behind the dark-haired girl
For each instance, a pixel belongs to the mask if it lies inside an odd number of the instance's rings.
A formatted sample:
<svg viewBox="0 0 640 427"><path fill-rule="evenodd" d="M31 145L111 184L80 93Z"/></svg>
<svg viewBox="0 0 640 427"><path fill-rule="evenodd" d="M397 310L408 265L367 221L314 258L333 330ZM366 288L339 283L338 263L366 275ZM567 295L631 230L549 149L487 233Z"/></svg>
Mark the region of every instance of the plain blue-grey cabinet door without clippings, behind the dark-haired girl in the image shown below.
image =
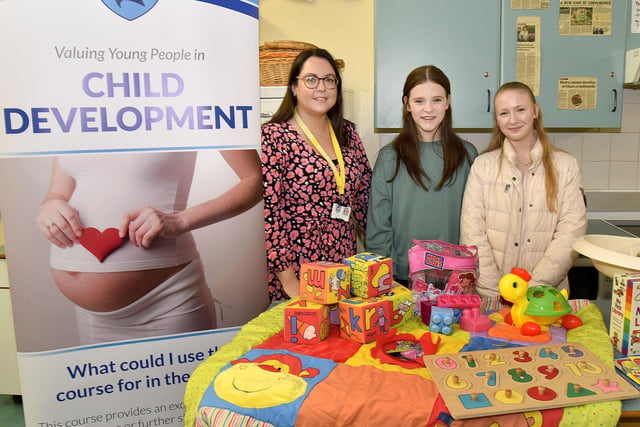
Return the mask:
<svg viewBox="0 0 640 427"><path fill-rule="evenodd" d="M376 0L375 127L402 127L407 74L435 65L451 81L456 128L493 126L500 63L499 0Z"/></svg>

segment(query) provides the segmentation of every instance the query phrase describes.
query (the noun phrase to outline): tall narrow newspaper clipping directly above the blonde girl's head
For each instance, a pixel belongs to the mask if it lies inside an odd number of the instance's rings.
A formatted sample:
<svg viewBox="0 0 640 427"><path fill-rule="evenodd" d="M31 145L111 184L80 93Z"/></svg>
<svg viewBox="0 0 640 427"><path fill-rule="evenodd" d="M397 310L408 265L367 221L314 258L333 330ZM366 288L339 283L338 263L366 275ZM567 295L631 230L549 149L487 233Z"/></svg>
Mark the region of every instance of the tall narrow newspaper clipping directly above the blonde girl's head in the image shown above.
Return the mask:
<svg viewBox="0 0 640 427"><path fill-rule="evenodd" d="M516 20L516 80L540 95L540 17L519 16Z"/></svg>

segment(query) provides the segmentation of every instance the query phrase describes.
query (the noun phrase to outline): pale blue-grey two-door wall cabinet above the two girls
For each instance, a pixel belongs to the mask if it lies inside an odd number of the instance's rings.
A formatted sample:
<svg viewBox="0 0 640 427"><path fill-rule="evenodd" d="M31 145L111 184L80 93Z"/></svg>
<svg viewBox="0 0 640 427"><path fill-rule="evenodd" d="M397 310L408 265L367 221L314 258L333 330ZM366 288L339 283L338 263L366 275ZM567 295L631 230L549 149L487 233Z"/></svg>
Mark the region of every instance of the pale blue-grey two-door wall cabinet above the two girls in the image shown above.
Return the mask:
<svg viewBox="0 0 640 427"><path fill-rule="evenodd" d="M611 35L559 35L560 0L549 9L512 10L511 0L376 0L375 127L401 127L402 85L415 67L434 64L451 80L454 127L493 126L493 95L516 79L516 21L539 16L540 95L549 128L619 128L622 120L628 2L613 4ZM597 108L558 108L558 79L595 77Z"/></svg>

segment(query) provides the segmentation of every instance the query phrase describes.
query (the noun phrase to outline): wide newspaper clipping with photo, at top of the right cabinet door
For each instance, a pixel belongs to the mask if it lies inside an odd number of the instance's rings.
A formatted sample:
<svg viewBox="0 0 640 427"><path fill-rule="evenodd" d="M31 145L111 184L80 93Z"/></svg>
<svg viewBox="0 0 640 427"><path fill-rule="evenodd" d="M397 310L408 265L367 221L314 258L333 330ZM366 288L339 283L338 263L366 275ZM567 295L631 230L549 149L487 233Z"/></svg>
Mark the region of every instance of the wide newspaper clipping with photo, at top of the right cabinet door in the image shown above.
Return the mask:
<svg viewBox="0 0 640 427"><path fill-rule="evenodd" d="M611 35L612 0L560 0L561 36Z"/></svg>

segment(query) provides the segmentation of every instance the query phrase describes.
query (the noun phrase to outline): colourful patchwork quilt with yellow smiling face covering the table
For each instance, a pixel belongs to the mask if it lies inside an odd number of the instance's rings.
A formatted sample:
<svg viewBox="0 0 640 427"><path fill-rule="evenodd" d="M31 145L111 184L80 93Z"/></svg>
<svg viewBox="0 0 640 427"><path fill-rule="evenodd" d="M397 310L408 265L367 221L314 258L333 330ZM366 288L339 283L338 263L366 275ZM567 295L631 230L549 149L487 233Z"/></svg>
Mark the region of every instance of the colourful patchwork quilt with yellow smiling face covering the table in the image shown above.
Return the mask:
<svg viewBox="0 0 640 427"><path fill-rule="evenodd" d="M193 372L184 396L185 426L615 426L620 416L620 401L611 401L454 420L426 368L383 363L372 354L376 343L342 339L337 327L317 345L285 342L284 306L248 322ZM576 314L584 325L567 331L566 341L584 344L613 366L602 314L593 304L574 302L580 306ZM419 339L427 331L414 319L398 333ZM439 354L483 349L494 339L457 327L438 336Z"/></svg>

